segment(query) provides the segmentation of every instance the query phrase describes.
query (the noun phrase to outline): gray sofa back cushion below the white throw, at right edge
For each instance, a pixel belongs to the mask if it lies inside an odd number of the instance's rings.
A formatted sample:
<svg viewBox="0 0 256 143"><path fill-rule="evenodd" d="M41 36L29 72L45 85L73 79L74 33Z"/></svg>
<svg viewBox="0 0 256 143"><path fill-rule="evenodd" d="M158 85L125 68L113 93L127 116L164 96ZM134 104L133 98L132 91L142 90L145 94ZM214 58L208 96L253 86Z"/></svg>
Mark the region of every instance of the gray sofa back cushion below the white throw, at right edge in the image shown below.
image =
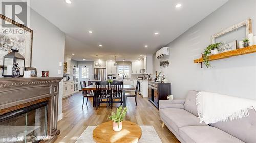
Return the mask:
<svg viewBox="0 0 256 143"><path fill-rule="evenodd" d="M221 129L238 139L247 142L256 142L256 111L254 109L248 109L249 116L243 117L241 119L227 121L227 122L217 122L212 124L212 126Z"/></svg>

